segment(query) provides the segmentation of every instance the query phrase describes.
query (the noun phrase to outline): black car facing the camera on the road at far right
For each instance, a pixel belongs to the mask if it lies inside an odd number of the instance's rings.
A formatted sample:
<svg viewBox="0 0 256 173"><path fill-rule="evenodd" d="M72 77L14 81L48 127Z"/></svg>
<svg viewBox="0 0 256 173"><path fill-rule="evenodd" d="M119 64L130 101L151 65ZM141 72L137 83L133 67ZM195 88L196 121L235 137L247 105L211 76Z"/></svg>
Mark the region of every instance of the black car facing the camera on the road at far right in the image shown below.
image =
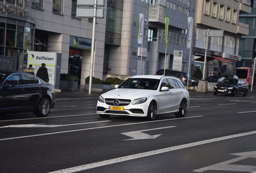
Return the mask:
<svg viewBox="0 0 256 173"><path fill-rule="evenodd" d="M214 87L214 95L217 95L218 93L230 94L232 96L243 94L244 96L247 96L248 84L242 79L225 78Z"/></svg>

